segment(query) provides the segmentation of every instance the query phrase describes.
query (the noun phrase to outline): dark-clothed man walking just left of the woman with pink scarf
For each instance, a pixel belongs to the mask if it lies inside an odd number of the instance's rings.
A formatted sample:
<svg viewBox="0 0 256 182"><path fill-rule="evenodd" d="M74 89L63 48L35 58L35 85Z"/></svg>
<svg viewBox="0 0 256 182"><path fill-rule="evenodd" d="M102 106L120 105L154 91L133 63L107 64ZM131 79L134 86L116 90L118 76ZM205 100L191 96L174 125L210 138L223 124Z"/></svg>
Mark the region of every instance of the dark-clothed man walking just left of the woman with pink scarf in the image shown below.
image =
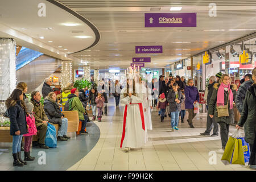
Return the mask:
<svg viewBox="0 0 256 182"><path fill-rule="evenodd" d="M212 96L213 93L213 85L216 84L216 77L211 76L209 79L209 85L208 85L208 94L207 94L207 110L208 106L210 103L210 97ZM212 126L213 126L213 134L210 135L210 131L212 131ZM204 131L204 133L200 133L200 135L207 135L211 137L216 137L218 136L218 123L214 121L214 118L210 118L209 114L207 114L207 129Z"/></svg>

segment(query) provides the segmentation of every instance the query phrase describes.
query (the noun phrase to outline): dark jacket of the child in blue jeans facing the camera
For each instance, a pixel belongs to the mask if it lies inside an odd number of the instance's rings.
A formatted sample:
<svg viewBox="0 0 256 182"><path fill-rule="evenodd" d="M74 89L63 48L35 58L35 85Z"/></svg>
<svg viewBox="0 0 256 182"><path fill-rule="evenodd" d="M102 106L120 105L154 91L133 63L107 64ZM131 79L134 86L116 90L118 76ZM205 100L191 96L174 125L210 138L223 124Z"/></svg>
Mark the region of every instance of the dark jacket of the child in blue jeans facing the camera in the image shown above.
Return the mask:
<svg viewBox="0 0 256 182"><path fill-rule="evenodd" d="M179 104L177 102L175 102L176 95L175 95L174 90L171 90L167 96L167 101L169 102L170 113L176 112L176 111L181 111L181 102L184 101L184 98L183 98L183 95L180 90L177 90L177 99L180 101Z"/></svg>

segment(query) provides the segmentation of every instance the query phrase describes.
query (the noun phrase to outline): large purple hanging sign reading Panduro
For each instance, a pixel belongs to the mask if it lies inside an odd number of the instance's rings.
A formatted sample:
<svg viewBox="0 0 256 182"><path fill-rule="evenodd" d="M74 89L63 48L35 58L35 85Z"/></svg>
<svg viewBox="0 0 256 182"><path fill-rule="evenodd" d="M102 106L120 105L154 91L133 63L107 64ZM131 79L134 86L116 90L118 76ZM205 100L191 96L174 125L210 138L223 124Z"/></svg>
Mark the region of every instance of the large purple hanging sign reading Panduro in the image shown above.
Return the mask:
<svg viewBox="0 0 256 182"><path fill-rule="evenodd" d="M196 13L145 13L145 27L196 27Z"/></svg>

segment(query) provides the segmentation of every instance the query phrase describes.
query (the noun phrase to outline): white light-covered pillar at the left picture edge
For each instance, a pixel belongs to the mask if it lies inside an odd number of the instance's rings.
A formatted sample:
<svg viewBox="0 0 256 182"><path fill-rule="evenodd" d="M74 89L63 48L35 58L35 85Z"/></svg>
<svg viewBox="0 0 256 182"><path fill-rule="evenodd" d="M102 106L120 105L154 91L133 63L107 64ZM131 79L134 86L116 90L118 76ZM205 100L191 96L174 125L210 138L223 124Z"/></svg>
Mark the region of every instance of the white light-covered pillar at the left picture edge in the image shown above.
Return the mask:
<svg viewBox="0 0 256 182"><path fill-rule="evenodd" d="M15 40L0 38L0 113L5 113L5 101L16 86Z"/></svg>

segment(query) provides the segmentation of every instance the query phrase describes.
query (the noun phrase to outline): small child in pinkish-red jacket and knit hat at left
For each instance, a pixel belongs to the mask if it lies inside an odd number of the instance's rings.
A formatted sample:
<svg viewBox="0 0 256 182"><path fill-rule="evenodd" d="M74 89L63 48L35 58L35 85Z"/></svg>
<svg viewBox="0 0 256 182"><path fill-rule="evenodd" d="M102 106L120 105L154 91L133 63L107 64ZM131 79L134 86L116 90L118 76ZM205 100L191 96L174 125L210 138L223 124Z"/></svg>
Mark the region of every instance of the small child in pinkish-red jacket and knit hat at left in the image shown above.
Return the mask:
<svg viewBox="0 0 256 182"><path fill-rule="evenodd" d="M27 107L27 114L26 114L26 121L27 121L27 128L28 133L24 134L24 160L32 161L35 158L30 156L30 146L32 143L33 135L36 135L37 129L35 125L35 117L33 115L34 105L26 98L25 105Z"/></svg>

